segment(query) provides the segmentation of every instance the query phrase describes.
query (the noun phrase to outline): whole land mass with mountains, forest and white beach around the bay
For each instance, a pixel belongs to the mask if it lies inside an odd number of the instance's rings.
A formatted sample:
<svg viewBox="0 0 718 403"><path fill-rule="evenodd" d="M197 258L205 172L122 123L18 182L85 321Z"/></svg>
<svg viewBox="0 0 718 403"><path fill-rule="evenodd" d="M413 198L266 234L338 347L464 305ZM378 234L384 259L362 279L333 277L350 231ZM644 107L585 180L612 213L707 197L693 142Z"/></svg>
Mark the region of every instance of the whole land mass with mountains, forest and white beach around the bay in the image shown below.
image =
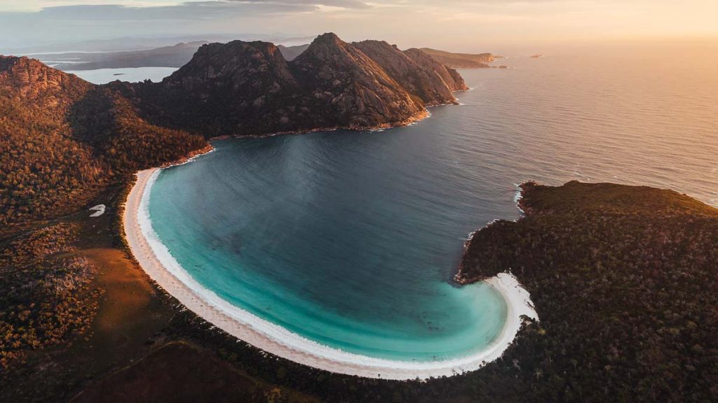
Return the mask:
<svg viewBox="0 0 718 403"><path fill-rule="evenodd" d="M497 343L460 364L327 359L200 300L148 242L141 214L157 167L211 151L215 136L405 125L467 89L421 49L324 34L302 50L205 44L163 82L108 85L0 57L4 399L718 396L718 210L675 191L521 185L523 217L474 232L455 273L454 285L488 280L508 302Z"/></svg>

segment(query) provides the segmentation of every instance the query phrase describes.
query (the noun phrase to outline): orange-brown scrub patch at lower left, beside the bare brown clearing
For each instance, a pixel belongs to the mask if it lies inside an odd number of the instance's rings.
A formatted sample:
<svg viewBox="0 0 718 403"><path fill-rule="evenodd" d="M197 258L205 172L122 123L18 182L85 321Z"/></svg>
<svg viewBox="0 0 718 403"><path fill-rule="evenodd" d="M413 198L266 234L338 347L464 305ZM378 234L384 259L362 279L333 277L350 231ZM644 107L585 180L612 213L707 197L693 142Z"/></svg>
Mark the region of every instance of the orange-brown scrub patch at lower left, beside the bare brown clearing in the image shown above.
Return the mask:
<svg viewBox="0 0 718 403"><path fill-rule="evenodd" d="M24 351L65 341L97 309L95 266L76 250L71 224L45 227L0 252L0 372Z"/></svg>

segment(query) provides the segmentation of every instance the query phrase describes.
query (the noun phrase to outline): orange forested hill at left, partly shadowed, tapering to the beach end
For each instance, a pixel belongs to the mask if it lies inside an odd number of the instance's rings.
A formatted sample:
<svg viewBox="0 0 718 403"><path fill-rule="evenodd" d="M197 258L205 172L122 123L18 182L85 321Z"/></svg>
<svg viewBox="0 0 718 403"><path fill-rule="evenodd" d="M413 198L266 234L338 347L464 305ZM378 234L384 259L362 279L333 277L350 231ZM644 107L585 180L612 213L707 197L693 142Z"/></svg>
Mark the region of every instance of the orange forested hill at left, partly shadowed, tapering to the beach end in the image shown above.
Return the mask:
<svg viewBox="0 0 718 403"><path fill-rule="evenodd" d="M2 227L67 214L115 175L205 146L147 123L109 88L27 57L0 56L0 123Z"/></svg>

